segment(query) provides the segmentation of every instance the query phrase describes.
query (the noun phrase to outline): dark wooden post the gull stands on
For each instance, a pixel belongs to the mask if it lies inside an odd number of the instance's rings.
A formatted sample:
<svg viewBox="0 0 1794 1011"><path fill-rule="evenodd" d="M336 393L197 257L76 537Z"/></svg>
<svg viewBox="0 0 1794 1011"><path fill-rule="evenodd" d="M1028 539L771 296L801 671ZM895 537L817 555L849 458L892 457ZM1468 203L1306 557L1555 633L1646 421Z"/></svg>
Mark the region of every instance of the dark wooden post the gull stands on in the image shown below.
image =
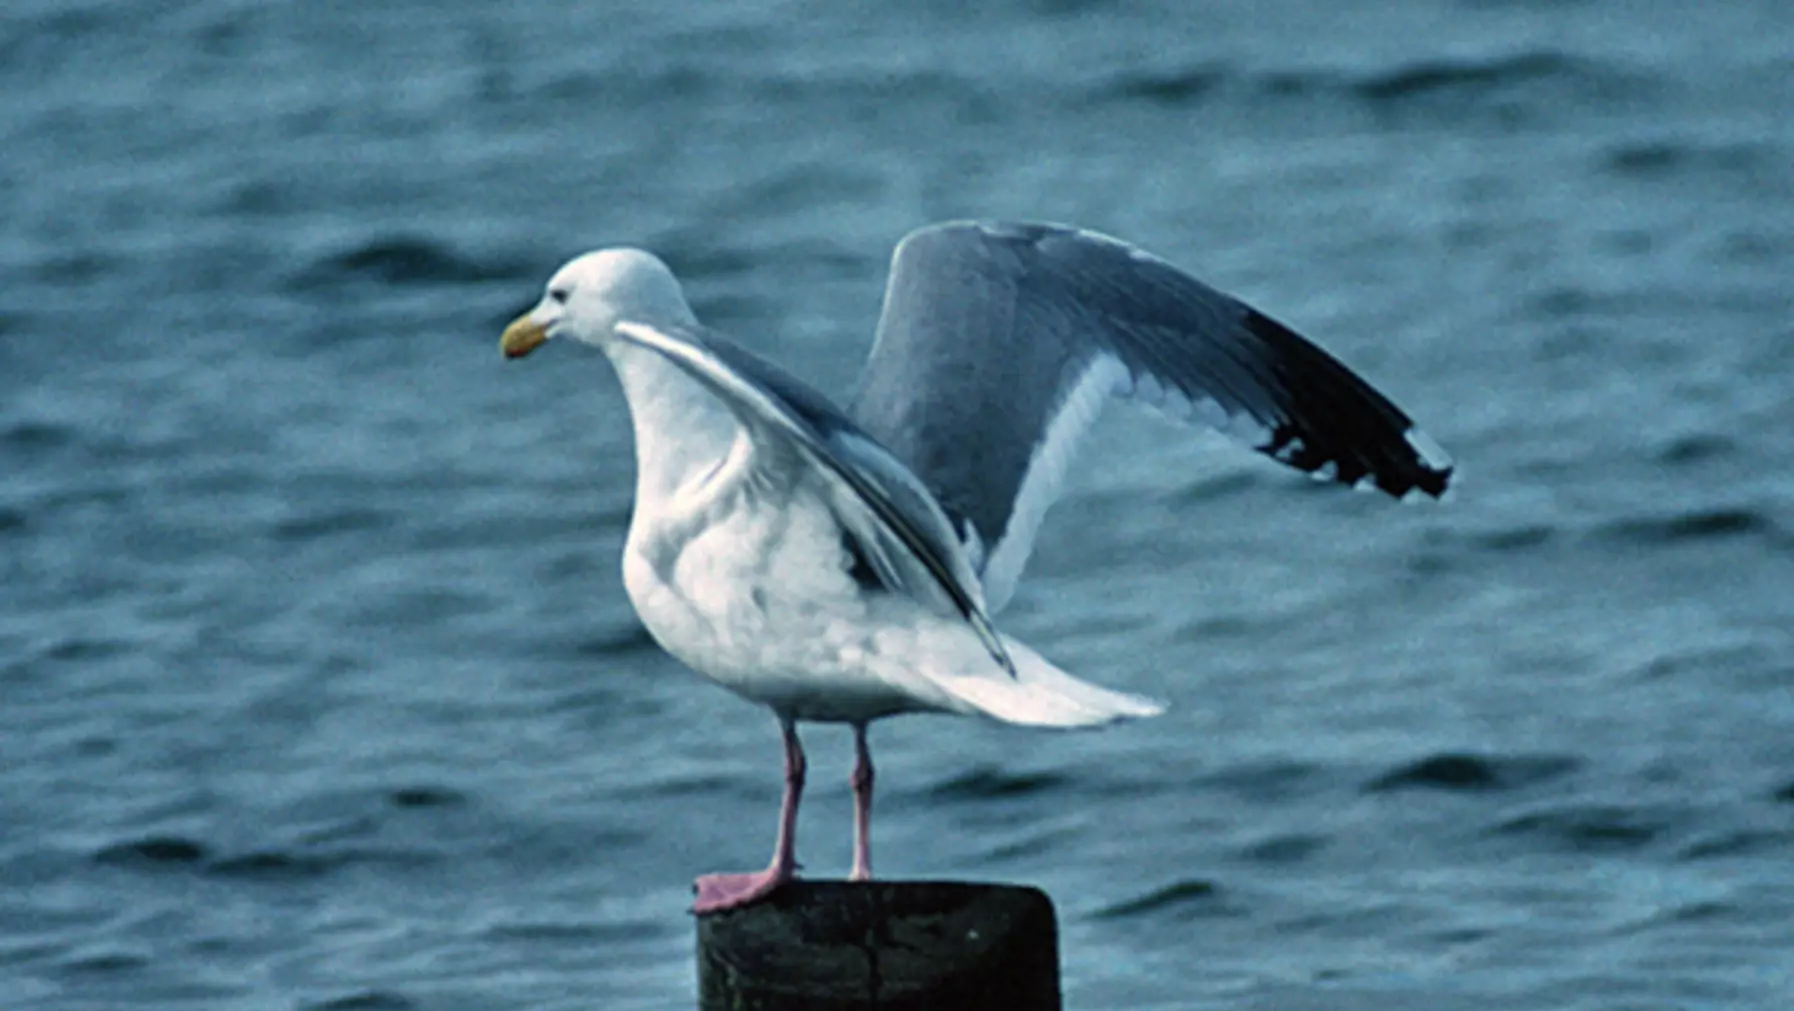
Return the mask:
<svg viewBox="0 0 1794 1011"><path fill-rule="evenodd" d="M965 882L809 882L698 918L700 1011L1058 1011L1053 900Z"/></svg>

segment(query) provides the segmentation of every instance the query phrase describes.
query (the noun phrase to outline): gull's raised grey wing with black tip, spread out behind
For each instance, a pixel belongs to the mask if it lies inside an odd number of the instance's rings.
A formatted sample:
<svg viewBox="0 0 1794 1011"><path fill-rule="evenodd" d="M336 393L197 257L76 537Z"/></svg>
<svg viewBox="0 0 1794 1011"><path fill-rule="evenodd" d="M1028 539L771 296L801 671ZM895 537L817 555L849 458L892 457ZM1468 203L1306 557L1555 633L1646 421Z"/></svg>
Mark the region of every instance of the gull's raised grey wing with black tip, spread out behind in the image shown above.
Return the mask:
<svg viewBox="0 0 1794 1011"><path fill-rule="evenodd" d="M1344 484L1439 497L1451 477L1401 409L1290 328L1134 246L1051 224L904 237L850 414L960 523L997 611L1110 394Z"/></svg>

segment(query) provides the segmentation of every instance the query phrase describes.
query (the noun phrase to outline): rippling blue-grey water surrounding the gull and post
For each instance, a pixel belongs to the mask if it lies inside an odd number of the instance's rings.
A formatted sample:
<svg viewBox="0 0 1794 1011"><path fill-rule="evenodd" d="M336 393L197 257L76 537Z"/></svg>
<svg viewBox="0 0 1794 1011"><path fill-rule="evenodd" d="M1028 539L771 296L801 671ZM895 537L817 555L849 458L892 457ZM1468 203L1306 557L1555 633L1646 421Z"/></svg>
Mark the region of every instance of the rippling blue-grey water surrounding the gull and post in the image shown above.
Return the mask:
<svg viewBox="0 0 1794 1011"><path fill-rule="evenodd" d="M601 357L497 332L631 242L847 389L962 215L1240 292L1462 482L1112 412L1003 624L1175 708L877 726L883 873L1046 887L1071 1007L1790 1006L1794 7L615 7L0 11L0 1006L691 1006L775 726L628 608Z"/></svg>

